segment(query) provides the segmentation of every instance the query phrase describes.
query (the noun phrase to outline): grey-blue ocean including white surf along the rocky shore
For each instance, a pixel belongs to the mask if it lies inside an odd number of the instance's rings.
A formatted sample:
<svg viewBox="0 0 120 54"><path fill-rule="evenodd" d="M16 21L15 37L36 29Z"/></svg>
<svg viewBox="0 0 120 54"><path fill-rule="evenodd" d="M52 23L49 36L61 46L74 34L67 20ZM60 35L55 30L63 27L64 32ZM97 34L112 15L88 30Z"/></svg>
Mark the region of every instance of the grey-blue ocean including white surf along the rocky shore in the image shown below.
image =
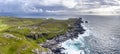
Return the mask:
<svg viewBox="0 0 120 54"><path fill-rule="evenodd" d="M65 54L120 54L119 16L81 16L88 23L78 38L61 44Z"/></svg>

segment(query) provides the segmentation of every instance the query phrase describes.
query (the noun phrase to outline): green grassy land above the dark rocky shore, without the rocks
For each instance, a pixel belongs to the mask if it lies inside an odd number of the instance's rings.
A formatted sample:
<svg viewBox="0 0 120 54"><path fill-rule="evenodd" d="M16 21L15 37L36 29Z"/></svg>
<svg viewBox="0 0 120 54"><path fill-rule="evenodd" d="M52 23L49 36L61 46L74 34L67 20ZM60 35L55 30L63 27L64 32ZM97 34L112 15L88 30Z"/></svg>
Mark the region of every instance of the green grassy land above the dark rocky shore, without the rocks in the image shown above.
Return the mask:
<svg viewBox="0 0 120 54"><path fill-rule="evenodd" d="M0 54L33 54L34 49L46 51L38 43L64 34L74 21L0 17Z"/></svg>

